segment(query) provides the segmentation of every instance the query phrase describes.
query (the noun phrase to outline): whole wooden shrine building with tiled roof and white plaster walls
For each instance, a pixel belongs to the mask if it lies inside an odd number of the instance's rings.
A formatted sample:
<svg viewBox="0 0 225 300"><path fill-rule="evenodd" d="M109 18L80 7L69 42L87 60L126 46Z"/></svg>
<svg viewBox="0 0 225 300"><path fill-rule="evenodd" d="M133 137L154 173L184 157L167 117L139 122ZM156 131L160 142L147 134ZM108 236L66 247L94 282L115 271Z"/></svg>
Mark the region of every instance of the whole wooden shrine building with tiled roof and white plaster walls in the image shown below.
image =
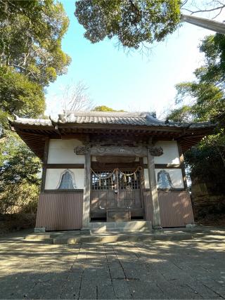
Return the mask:
<svg viewBox="0 0 225 300"><path fill-rule="evenodd" d="M148 112L74 111L10 123L43 162L36 232L194 223L183 155L214 124L163 122Z"/></svg>

